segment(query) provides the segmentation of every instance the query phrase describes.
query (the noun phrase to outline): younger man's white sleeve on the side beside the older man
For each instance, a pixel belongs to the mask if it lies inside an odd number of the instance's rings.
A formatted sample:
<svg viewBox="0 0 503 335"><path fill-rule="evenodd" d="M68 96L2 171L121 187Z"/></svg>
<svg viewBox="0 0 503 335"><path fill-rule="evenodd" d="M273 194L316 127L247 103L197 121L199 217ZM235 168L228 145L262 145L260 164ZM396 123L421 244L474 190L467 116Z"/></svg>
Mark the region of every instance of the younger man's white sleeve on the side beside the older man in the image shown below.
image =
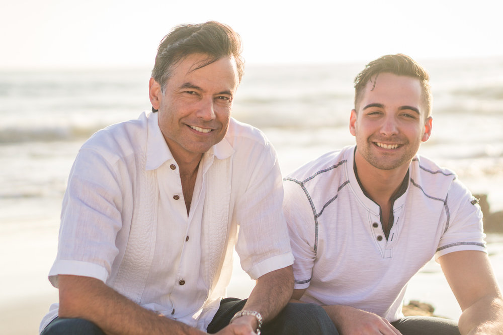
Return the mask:
<svg viewBox="0 0 503 335"><path fill-rule="evenodd" d="M283 212L287 221L290 245L295 261L293 275L295 289L309 287L316 259L314 214L302 187L292 180L283 182L285 197Z"/></svg>

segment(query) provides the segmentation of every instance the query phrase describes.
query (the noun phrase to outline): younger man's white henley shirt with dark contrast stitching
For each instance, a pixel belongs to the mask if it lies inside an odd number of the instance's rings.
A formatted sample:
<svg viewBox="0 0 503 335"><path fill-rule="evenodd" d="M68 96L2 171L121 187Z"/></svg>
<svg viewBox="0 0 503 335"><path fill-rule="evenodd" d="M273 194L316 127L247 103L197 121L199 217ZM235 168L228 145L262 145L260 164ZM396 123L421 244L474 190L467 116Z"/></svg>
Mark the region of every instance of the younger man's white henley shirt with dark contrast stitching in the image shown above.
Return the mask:
<svg viewBox="0 0 503 335"><path fill-rule="evenodd" d="M295 289L306 289L302 301L352 306L392 322L403 316L408 281L434 256L485 252L482 212L452 171L415 156L386 239L380 207L354 173L354 151L329 152L285 178Z"/></svg>

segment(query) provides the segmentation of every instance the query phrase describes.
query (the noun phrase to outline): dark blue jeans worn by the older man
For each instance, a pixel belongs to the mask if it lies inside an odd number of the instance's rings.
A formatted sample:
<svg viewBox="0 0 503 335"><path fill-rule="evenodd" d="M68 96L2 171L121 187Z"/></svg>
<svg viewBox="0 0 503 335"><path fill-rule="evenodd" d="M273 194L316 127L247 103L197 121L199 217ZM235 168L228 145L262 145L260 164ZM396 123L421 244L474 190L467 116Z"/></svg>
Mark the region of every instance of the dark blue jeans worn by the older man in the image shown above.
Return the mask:
<svg viewBox="0 0 503 335"><path fill-rule="evenodd" d="M240 311L246 300L226 298L220 302L215 317L208 325L208 332L215 333L229 324L231 317ZM105 335L94 323L78 318L56 317L41 335ZM336 327L323 308L314 304L289 303L271 321L262 326L263 335L337 335Z"/></svg>

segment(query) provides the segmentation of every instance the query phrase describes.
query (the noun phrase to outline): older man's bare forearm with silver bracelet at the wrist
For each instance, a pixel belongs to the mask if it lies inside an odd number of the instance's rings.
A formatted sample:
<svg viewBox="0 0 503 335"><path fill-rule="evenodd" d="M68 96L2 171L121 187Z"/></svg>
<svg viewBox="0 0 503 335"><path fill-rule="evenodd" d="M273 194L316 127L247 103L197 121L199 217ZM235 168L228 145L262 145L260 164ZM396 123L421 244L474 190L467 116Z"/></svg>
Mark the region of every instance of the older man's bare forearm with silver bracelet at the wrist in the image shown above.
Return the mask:
<svg viewBox="0 0 503 335"><path fill-rule="evenodd" d="M285 307L293 291L292 266L266 273L257 279L243 310L259 312L264 323L272 320ZM246 323L257 328L255 316L241 316L232 324Z"/></svg>

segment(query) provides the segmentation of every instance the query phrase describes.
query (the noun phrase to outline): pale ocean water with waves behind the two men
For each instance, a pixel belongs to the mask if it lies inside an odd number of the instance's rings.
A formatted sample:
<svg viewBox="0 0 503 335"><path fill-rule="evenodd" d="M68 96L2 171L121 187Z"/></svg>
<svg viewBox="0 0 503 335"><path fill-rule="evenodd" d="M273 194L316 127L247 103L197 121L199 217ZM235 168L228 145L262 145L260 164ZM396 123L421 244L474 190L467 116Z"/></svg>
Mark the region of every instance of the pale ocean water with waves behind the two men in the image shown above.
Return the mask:
<svg viewBox="0 0 503 335"><path fill-rule="evenodd" d="M503 58L424 61L433 133L421 153L503 208ZM354 143L353 79L364 64L248 65L233 117L263 130L284 174ZM60 198L78 147L149 110L149 69L0 72L0 208ZM3 224L5 222L0 222Z"/></svg>

